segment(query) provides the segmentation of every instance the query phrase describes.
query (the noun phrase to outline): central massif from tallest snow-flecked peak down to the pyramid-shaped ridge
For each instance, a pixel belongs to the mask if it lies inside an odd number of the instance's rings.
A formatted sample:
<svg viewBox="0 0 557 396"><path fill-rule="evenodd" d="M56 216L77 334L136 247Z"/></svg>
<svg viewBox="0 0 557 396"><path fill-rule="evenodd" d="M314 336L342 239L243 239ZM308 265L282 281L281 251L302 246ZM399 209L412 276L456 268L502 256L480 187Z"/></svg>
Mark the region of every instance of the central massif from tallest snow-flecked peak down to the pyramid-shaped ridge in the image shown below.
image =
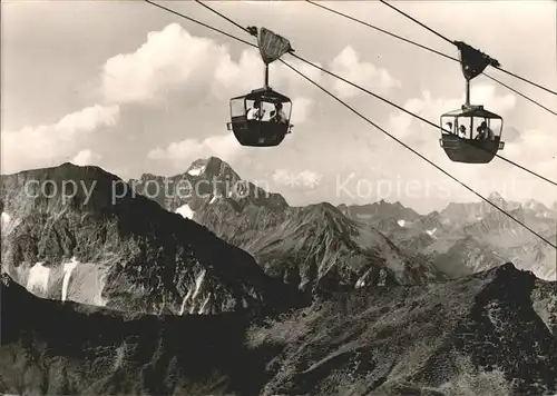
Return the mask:
<svg viewBox="0 0 557 396"><path fill-rule="evenodd" d="M162 186L177 180L212 189L195 194L194 187L190 195L172 199L160 192L154 199L167 210L187 208L192 219L253 255L267 275L309 295L443 278L434 266L400 249L374 226L350 219L328 202L290 207L282 196L242 180L214 157L195 161L183 175L144 175L136 190L149 195L147 187L163 191Z"/></svg>

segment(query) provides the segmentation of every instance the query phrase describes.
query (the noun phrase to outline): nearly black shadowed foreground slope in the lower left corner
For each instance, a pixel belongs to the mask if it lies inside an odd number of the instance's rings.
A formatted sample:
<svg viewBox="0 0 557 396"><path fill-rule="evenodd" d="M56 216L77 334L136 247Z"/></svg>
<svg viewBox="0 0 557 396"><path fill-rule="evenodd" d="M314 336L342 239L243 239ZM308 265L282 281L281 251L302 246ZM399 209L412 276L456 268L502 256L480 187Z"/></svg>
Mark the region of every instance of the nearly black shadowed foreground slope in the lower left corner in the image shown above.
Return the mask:
<svg viewBox="0 0 557 396"><path fill-rule="evenodd" d="M39 299L3 277L0 392L254 395L263 365L247 318L150 316Z"/></svg>

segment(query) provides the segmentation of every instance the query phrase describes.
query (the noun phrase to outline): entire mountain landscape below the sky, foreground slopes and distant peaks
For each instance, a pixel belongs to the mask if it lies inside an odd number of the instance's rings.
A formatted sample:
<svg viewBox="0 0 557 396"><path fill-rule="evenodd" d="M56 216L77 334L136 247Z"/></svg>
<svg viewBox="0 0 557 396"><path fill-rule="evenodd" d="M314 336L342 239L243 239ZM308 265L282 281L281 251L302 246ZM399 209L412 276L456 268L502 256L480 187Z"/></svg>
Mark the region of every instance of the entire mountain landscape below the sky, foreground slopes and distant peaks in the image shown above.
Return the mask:
<svg viewBox="0 0 557 396"><path fill-rule="evenodd" d="M2 394L557 393L555 249L489 204L292 207L211 157L1 175L0 211Z"/></svg>

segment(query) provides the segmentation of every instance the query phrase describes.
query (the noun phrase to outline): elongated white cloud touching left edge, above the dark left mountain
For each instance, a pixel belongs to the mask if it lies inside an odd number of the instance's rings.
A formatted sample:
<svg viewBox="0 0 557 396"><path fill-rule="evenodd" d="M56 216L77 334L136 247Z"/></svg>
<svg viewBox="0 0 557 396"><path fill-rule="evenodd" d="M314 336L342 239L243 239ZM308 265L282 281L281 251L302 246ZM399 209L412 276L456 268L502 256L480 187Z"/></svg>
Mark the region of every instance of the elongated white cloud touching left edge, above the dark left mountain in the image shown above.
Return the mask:
<svg viewBox="0 0 557 396"><path fill-rule="evenodd" d="M2 131L2 172L50 166L71 156L92 131L116 125L118 106L85 108L57 123Z"/></svg>

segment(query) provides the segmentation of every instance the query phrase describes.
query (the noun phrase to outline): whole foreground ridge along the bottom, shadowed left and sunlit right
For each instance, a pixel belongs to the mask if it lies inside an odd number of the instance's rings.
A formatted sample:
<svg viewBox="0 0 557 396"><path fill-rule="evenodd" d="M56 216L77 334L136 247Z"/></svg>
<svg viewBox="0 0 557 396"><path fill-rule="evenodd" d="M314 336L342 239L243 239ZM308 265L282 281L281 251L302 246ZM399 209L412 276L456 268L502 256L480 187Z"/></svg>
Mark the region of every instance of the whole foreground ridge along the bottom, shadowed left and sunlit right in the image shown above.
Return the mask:
<svg viewBox="0 0 557 396"><path fill-rule="evenodd" d="M557 336L541 316L555 324L546 303L556 286L507 264L447 283L333 294L250 323L242 313L61 304L4 275L0 392L553 395Z"/></svg>

